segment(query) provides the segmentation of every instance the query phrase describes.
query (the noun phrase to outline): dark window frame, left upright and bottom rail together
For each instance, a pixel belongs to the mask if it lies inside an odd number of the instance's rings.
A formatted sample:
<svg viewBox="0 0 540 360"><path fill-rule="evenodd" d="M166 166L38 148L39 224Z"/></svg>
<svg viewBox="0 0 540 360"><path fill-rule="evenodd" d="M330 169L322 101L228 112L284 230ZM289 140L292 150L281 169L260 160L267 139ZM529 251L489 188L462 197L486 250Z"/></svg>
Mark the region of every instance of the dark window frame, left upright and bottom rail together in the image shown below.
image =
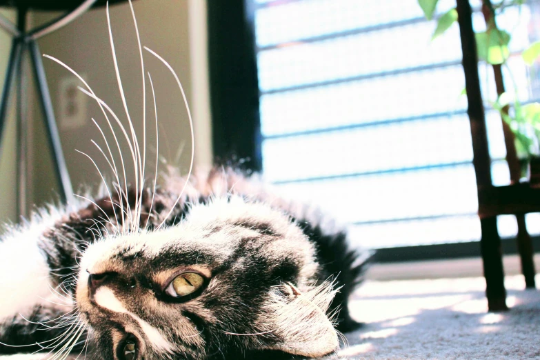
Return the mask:
<svg viewBox="0 0 540 360"><path fill-rule="evenodd" d="M208 1L212 143L217 163L262 170L255 5L250 0ZM415 19L417 21L417 19ZM452 112L454 114L454 112ZM503 254L518 254L516 237L503 238ZM540 252L540 237L532 237ZM374 261L392 263L480 257L480 240L376 249Z"/></svg>

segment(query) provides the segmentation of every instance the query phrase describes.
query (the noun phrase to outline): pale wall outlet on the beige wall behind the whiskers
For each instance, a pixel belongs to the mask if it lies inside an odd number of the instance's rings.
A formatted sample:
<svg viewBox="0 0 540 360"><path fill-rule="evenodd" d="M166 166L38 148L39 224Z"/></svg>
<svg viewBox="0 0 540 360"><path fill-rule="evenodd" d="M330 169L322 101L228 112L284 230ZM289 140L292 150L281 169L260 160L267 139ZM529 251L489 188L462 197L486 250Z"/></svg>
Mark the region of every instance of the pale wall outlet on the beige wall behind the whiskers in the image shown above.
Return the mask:
<svg viewBox="0 0 540 360"><path fill-rule="evenodd" d="M81 74L86 80L86 76ZM86 125L88 109L88 95L84 94L77 86L83 83L77 77L66 76L59 83L59 127L61 130L82 128Z"/></svg>

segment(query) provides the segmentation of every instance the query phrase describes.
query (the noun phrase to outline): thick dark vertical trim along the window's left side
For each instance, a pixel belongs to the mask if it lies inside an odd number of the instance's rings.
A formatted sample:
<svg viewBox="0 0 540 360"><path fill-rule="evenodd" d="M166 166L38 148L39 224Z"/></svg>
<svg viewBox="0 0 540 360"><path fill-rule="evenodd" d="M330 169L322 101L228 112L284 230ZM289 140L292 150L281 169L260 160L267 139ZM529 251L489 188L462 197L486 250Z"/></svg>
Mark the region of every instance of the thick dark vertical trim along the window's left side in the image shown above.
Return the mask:
<svg viewBox="0 0 540 360"><path fill-rule="evenodd" d="M244 0L208 1L215 161L260 171L259 82L253 29L252 10Z"/></svg>

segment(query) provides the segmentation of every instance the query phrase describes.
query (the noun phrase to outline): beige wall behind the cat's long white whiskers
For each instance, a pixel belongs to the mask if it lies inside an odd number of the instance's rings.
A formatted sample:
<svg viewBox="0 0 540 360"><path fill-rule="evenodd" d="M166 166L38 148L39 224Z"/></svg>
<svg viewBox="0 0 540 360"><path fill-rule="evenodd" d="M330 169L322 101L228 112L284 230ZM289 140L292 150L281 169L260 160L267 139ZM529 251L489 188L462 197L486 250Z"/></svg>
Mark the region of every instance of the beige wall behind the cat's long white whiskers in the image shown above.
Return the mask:
<svg viewBox="0 0 540 360"><path fill-rule="evenodd" d="M210 134L210 105L208 101L208 65L206 54L206 1L203 0L137 0L133 3L137 24L143 46L148 46L166 59L177 72L188 103L192 107L196 132L196 161L208 165L212 159ZM32 23L43 23L57 14L32 14ZM123 81L123 89L130 117L134 128L142 139L142 84L141 68L129 4L122 3L110 8L110 18L114 45L117 50L119 69ZM127 126L121 97L114 74L112 54L110 50L106 12L104 8L91 10L70 25L39 40L42 53L50 54L67 63L77 72L83 74L88 84L98 97L108 103L117 112ZM3 59L1 59L3 60ZM95 188L100 181L98 172L92 163L75 150L90 154L96 159L100 168L107 170L107 163L97 148L90 142L92 139L104 145L99 130L90 117L100 123L103 130L107 128L103 114L91 99L86 99L88 108L85 122L81 126L63 126L62 109L60 108L60 89L70 73L57 63L43 59L48 84L54 104L57 122L60 125L63 152L68 164L74 190L82 186ZM151 54L144 54L146 70L152 74L156 90L159 118L159 154L170 163L177 163L181 172L186 173L190 159L190 131L186 108L183 105L181 92L176 81L160 61ZM1 63L0 63L1 66ZM5 66L1 67L2 69ZM153 174L155 164L155 128L154 110L151 90L147 77L147 134L148 134L148 168ZM35 107L39 109L39 107ZM114 144L108 134L111 146ZM57 199L57 185L52 172L51 157L48 152L44 128L39 112L34 112L33 130L30 135L30 203L41 206L43 203ZM142 146L142 145L141 145ZM128 156L128 146L121 143L124 158ZM177 153L181 151L179 157ZM7 155L7 153L6 153ZM117 164L120 159L116 156ZM132 164L127 161L128 179L133 178ZM14 166L12 163L10 166ZM0 173L3 187L10 188L6 171ZM6 181L6 186L4 186ZM9 178L9 181L12 181ZM3 193L3 188L2 188ZM7 200L7 199L6 199ZM0 210L6 200L0 198ZM12 217L0 212L0 220Z"/></svg>

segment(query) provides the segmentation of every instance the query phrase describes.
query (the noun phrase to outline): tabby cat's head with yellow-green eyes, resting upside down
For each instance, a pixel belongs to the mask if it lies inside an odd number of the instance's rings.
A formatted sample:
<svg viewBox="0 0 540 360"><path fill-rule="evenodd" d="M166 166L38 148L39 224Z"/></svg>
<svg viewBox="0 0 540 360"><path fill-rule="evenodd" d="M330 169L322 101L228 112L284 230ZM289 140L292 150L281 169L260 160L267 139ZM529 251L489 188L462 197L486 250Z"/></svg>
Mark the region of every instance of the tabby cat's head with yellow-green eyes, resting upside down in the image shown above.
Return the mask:
<svg viewBox="0 0 540 360"><path fill-rule="evenodd" d="M195 205L169 228L93 243L80 266L77 306L97 359L319 357L338 346L312 243L261 203Z"/></svg>

